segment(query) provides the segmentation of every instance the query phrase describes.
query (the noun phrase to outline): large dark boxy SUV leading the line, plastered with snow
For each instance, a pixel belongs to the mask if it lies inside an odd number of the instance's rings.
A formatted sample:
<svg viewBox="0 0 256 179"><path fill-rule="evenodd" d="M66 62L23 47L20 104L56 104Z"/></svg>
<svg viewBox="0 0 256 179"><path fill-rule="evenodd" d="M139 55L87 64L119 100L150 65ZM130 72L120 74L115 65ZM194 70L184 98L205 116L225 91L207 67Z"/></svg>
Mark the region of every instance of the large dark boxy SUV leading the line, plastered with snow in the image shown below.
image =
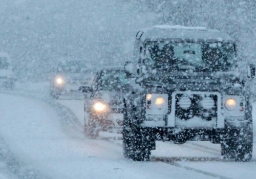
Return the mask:
<svg viewBox="0 0 256 179"><path fill-rule="evenodd" d="M230 36L201 27L156 26L137 33L134 58L138 87L130 86L124 98L126 158L149 160L157 140L201 140L221 144L226 159L251 159L249 88L255 65L241 73Z"/></svg>

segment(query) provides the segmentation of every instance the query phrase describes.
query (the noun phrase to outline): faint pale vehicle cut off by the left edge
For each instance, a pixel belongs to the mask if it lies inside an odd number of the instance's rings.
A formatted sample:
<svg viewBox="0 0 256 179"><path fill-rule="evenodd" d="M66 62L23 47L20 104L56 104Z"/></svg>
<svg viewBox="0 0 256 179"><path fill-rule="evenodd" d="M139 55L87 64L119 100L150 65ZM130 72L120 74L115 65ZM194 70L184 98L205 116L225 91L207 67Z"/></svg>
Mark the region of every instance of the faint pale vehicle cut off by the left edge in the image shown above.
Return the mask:
<svg viewBox="0 0 256 179"><path fill-rule="evenodd" d="M0 86L13 89L15 86L13 66L6 53L0 53Z"/></svg>

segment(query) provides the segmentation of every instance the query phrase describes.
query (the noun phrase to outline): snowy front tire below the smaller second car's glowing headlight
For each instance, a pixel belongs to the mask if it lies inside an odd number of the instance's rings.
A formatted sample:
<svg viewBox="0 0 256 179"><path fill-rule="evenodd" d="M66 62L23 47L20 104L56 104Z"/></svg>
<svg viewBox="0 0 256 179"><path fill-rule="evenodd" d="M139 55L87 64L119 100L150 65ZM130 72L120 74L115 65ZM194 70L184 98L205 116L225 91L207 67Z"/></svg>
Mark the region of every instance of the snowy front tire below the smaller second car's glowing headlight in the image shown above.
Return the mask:
<svg viewBox="0 0 256 179"><path fill-rule="evenodd" d="M96 139L99 137L99 127L96 120L88 119L88 124L86 123L86 119L84 119L84 135L88 139Z"/></svg>

